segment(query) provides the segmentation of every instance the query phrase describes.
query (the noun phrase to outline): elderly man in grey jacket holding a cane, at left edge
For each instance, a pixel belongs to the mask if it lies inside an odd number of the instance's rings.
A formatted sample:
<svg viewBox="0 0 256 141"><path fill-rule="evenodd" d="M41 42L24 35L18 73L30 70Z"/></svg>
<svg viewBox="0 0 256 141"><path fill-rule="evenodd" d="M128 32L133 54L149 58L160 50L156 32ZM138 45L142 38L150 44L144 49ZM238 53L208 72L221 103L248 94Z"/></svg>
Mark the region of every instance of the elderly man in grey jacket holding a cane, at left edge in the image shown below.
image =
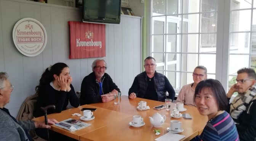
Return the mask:
<svg viewBox="0 0 256 141"><path fill-rule="evenodd" d="M0 72L0 140L1 141L29 141L32 140L27 131L35 128L51 128L44 122L17 121L9 110L4 108L10 101L13 85L8 80L8 74ZM58 123L55 119L48 119L49 124Z"/></svg>

